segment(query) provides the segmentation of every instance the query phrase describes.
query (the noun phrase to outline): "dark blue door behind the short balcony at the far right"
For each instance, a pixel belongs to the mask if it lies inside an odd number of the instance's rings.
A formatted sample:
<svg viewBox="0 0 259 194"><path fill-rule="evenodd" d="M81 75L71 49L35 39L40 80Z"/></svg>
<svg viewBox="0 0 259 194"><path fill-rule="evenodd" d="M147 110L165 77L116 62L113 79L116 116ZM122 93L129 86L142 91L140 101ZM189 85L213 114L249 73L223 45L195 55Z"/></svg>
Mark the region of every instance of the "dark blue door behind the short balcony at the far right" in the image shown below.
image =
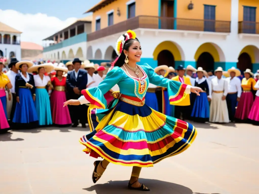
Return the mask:
<svg viewBox="0 0 259 194"><path fill-rule="evenodd" d="M243 33L255 34L256 33L256 8L243 7Z"/></svg>

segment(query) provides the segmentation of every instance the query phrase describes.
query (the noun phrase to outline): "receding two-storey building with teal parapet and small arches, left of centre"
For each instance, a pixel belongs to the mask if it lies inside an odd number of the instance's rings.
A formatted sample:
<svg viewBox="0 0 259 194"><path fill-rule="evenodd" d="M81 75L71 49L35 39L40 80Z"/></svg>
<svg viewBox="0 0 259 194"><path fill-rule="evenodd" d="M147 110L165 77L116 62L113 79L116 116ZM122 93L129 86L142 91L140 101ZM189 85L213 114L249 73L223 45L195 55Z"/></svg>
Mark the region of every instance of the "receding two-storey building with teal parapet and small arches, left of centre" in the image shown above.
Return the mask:
<svg viewBox="0 0 259 194"><path fill-rule="evenodd" d="M43 49L44 59L71 60L86 58L87 34L91 33L92 16L78 19L75 23L49 36L43 41L54 41Z"/></svg>

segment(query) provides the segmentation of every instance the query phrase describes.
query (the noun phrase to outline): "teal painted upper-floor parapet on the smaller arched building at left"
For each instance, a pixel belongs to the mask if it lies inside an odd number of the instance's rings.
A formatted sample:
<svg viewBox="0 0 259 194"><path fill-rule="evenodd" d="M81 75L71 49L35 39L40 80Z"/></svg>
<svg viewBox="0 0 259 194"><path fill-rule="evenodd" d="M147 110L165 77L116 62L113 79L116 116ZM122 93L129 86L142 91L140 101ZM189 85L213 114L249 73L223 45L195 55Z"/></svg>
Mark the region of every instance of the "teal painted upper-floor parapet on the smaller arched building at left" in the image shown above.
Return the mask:
<svg viewBox="0 0 259 194"><path fill-rule="evenodd" d="M68 47L68 46L71 46L73 44L77 44L77 43L80 43L80 42L85 42L85 44L86 44L86 41L87 41L87 34L86 33L78 34L76 36L73 36L69 39L64 40L63 42L53 44L51 46L43 48L43 52L49 52L49 51L52 51L52 50L61 49L63 47Z"/></svg>

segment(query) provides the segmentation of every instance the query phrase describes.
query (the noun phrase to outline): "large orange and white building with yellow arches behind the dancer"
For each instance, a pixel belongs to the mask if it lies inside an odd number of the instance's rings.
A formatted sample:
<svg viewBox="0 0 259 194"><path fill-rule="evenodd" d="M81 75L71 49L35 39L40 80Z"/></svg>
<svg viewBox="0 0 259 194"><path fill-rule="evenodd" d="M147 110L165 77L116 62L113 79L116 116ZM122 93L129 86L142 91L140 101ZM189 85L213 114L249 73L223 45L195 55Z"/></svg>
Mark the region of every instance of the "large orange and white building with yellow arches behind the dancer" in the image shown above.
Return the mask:
<svg viewBox="0 0 259 194"><path fill-rule="evenodd" d="M256 71L257 7L259 1L249 0L103 0L86 11L93 13L86 58L112 60L117 38L132 29L141 42L141 63Z"/></svg>

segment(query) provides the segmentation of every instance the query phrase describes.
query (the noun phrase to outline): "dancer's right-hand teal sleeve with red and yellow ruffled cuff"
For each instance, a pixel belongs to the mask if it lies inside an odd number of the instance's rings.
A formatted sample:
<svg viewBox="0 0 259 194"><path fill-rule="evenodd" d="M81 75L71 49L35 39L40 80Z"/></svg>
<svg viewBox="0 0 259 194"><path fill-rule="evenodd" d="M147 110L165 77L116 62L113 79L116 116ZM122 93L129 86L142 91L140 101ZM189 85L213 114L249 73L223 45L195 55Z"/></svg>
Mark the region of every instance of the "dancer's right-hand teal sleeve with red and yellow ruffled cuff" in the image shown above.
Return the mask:
<svg viewBox="0 0 259 194"><path fill-rule="evenodd" d="M181 102L187 94L191 93L190 85L182 84L179 81L174 81L164 78L163 76L159 76L155 73L154 69L146 63L143 64L142 67L148 74L149 82L151 84L167 88L170 105Z"/></svg>

